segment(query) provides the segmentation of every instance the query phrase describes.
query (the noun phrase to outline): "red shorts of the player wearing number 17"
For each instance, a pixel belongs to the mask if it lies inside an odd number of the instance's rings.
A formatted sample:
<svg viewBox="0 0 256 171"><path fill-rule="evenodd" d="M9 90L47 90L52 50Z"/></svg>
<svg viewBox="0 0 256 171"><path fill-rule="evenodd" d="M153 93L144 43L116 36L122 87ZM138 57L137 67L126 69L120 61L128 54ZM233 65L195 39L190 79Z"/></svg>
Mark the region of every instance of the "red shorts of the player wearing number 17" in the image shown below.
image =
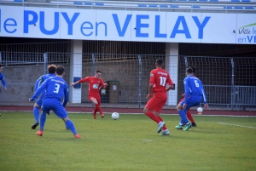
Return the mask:
<svg viewBox="0 0 256 171"><path fill-rule="evenodd" d="M146 108L150 111L160 112L163 106L166 104L167 94L154 94L154 96L148 101Z"/></svg>

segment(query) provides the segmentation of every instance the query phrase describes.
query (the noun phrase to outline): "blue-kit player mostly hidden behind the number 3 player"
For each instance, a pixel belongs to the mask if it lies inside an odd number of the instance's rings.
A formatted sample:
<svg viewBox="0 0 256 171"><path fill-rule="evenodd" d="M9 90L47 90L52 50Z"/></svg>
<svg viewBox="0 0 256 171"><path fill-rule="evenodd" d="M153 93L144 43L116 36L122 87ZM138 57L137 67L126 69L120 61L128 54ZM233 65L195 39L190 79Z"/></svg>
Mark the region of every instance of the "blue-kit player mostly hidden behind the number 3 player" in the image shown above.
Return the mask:
<svg viewBox="0 0 256 171"><path fill-rule="evenodd" d="M38 78L38 80L35 84L35 91L38 90L40 85L42 83L44 83L44 81L46 79L48 79L49 77L55 77L55 69L56 69L55 65L50 65L50 66L47 67L47 70L48 70L49 74L45 74L45 75ZM44 99L44 94L45 94L45 91L42 92L40 98L37 100L37 102L34 105L33 113L34 113L35 123L32 125L32 127L31 127L32 129L35 129L35 128L38 127L38 124L39 124L39 110L41 108L41 105L42 105L42 102L43 102L43 99Z"/></svg>

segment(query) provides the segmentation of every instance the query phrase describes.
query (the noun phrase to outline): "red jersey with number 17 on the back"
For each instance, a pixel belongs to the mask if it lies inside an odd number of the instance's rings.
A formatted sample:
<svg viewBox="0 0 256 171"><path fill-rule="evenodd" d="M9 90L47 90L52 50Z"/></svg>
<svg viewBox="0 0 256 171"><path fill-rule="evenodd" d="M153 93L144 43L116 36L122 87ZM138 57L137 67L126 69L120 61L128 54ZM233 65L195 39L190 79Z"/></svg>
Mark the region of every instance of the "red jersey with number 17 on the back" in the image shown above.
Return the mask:
<svg viewBox="0 0 256 171"><path fill-rule="evenodd" d="M169 73L166 70L157 68L150 72L150 81L149 83L154 84L153 92L163 92L166 93L166 84L170 86L173 85L172 79Z"/></svg>

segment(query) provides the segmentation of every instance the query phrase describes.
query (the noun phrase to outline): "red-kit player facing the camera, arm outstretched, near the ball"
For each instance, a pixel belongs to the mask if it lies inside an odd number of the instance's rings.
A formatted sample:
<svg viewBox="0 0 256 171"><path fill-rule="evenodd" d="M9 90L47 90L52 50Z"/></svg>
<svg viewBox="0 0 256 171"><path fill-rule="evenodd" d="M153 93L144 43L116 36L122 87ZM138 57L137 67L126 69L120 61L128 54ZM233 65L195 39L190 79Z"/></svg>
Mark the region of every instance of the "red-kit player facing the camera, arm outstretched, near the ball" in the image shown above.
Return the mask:
<svg viewBox="0 0 256 171"><path fill-rule="evenodd" d="M104 83L102 80L102 71L96 70L94 77L84 77L76 83L71 83L71 86L74 86L78 83L89 83L89 100L94 103L95 109L93 112L93 117L96 119L96 112L101 113L102 118L105 117L101 109L101 96L99 93L100 88L107 88L108 84Z"/></svg>

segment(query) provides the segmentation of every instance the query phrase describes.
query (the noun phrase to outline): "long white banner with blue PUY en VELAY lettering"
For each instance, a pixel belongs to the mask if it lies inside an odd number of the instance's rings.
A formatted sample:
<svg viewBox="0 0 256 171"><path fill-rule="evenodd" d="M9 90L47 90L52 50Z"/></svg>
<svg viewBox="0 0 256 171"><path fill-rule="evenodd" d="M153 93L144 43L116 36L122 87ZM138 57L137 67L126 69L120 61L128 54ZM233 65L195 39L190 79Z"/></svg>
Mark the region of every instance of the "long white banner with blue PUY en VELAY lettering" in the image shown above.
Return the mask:
<svg viewBox="0 0 256 171"><path fill-rule="evenodd" d="M256 14L0 6L0 37L256 44Z"/></svg>

